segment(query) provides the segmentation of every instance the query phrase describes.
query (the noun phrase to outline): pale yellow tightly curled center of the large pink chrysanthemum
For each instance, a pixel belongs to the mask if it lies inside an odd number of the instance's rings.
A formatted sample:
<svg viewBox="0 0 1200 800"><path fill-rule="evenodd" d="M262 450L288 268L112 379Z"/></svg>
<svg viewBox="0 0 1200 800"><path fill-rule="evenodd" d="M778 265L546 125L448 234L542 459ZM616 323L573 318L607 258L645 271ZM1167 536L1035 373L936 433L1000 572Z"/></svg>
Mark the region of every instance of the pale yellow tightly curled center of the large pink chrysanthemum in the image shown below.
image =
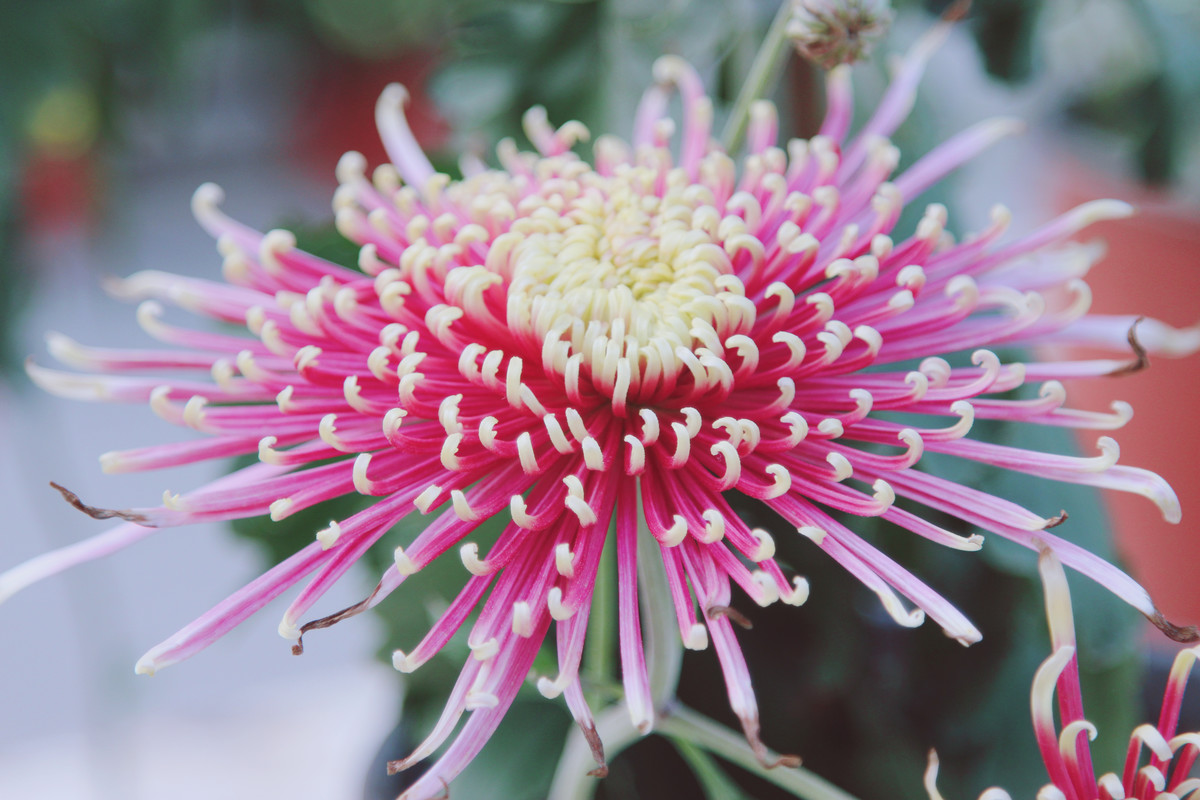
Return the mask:
<svg viewBox="0 0 1200 800"><path fill-rule="evenodd" d="M676 180L660 197L649 175L588 170L522 200L508 234L509 325L541 341L557 372L577 354L594 383L614 385L625 362L636 387L647 374L677 374L680 348L719 350L744 324L712 193Z"/></svg>

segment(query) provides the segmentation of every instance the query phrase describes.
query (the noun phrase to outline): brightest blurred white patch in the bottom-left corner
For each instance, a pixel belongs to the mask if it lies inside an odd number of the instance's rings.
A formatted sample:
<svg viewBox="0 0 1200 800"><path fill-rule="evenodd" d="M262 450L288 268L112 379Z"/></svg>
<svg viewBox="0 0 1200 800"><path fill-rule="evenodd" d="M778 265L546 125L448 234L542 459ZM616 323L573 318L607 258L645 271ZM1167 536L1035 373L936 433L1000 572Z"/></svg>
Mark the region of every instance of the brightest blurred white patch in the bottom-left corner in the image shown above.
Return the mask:
<svg viewBox="0 0 1200 800"><path fill-rule="evenodd" d="M103 728L6 746L0 796L362 796L366 757L391 727L392 705L380 699L395 691L395 678L385 667L302 669L228 688L203 710L160 708L167 705L160 694Z"/></svg>

